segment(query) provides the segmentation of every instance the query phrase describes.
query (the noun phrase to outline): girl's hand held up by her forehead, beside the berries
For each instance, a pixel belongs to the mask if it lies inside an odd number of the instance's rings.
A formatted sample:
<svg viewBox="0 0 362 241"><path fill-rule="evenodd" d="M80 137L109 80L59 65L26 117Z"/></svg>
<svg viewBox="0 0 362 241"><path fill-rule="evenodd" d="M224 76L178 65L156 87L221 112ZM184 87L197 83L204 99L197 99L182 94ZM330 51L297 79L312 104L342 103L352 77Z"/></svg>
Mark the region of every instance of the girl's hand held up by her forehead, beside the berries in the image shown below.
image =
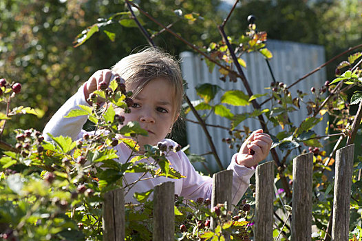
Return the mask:
<svg viewBox="0 0 362 241"><path fill-rule="evenodd" d="M98 70L96 71L88 81L85 83L84 86L84 96L87 100L89 97L89 94L93 93L96 90L100 90L100 85L106 85L108 86L111 80L114 79L114 77L120 77L119 74L116 72L113 72L111 70Z"/></svg>

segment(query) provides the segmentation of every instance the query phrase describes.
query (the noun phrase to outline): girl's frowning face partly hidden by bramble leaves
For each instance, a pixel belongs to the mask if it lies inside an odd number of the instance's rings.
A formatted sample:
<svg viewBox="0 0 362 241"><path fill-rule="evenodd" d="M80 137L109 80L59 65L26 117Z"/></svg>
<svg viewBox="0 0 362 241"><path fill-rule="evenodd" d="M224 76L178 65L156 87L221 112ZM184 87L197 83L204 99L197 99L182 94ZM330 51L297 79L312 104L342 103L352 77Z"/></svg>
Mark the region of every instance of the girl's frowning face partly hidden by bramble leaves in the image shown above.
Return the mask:
<svg viewBox="0 0 362 241"><path fill-rule="evenodd" d="M125 114L125 123L138 121L148 136L138 136L140 147L156 145L171 132L173 123L177 120L173 105L174 90L165 78L155 78L150 81L134 98L131 113Z"/></svg>

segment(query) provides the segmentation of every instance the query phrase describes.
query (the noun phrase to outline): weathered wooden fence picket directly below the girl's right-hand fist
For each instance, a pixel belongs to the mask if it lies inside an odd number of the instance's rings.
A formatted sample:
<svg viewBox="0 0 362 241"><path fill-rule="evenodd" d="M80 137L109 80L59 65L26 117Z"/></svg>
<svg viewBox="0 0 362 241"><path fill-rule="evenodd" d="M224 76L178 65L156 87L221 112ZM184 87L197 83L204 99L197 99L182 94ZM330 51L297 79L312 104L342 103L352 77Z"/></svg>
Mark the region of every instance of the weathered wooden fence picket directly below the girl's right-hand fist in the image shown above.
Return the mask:
<svg viewBox="0 0 362 241"><path fill-rule="evenodd" d="M273 240L274 162L257 166L255 174L255 240Z"/></svg>

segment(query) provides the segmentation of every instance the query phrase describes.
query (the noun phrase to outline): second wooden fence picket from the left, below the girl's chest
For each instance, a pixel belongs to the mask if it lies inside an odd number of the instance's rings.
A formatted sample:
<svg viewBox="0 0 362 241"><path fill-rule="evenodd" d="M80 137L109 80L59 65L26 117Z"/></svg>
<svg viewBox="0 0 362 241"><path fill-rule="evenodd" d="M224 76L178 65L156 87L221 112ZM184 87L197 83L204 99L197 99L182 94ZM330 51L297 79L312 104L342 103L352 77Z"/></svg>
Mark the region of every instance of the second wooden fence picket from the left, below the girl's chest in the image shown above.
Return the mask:
<svg viewBox="0 0 362 241"><path fill-rule="evenodd" d="M175 183L164 182L153 191L153 238L173 241L175 239Z"/></svg>

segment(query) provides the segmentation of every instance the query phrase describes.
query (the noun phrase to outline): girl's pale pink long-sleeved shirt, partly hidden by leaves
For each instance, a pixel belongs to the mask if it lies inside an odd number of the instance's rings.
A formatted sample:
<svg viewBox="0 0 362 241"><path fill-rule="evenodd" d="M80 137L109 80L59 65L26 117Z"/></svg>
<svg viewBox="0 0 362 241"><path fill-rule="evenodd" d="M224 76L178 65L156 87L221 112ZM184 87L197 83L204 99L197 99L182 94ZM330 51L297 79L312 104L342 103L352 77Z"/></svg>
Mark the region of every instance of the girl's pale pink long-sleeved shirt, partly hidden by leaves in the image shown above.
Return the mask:
<svg viewBox="0 0 362 241"><path fill-rule="evenodd" d="M64 118L64 116L67 116L71 109L79 108L78 105L89 105L87 101L85 101L83 86L79 88L78 92L68 99L60 109L58 109L56 114L52 116L49 123L47 123L43 131L45 140L51 140L50 137L47 136L47 133L50 133L53 136L70 136L73 140L83 138L83 134L86 132L82 128L87 121L87 116ZM161 142L167 146L177 145L177 143L170 139L164 139ZM123 143L120 143L114 148L116 149L119 156L117 161L120 163L125 163L129 155L131 155L131 149L129 149L129 147ZM125 196L125 202L136 202L133 197L135 192L141 193L148 191L149 189L153 189L153 187L156 185L167 181L175 182L175 194L178 194L179 196L184 196L184 198L193 200L196 200L197 198L211 199L211 191L213 186L212 178L209 176L202 176L197 171L195 171L195 168L193 165L191 165L189 158L187 158L183 151L178 151L176 153L173 151L170 152L171 153L167 156L167 159L170 161L171 167L173 167L176 171L179 171L182 176L186 176L186 178L150 178L151 176L146 174L142 177L145 180L137 182L136 185L134 185L134 187L132 187L127 192L127 195ZM254 168L238 165L235 162L235 158L236 154L233 155L231 163L228 166L228 169L233 170L233 205L237 205L237 202L239 202L239 200L242 198L246 189L248 188L251 176L253 176L255 173ZM152 162L152 160L141 161ZM127 173L125 174L124 182L130 184L138 180L140 176L142 176L142 173Z"/></svg>

